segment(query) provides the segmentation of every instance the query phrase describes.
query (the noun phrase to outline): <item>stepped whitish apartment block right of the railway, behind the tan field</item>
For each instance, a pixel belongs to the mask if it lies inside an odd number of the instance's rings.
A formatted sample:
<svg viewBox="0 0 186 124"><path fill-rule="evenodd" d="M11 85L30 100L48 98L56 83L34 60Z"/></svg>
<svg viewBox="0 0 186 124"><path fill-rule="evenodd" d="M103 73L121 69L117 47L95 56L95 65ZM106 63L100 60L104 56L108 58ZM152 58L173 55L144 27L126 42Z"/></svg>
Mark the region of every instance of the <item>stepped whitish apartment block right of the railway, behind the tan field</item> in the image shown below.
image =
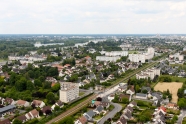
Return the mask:
<svg viewBox="0 0 186 124"><path fill-rule="evenodd" d="M147 69L145 71L141 71L140 74L136 74L136 79L148 79L148 78L150 78L151 80L153 80L156 75L160 76L160 69L151 68L151 69Z"/></svg>

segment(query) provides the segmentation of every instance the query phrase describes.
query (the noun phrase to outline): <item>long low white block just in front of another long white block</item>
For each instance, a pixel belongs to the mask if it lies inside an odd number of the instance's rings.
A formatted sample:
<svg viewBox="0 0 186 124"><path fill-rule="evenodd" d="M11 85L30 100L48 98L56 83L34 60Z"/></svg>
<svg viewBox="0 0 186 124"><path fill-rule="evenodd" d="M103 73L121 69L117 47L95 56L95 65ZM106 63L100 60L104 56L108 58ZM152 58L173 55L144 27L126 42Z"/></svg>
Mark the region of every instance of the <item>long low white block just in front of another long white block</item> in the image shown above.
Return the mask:
<svg viewBox="0 0 186 124"><path fill-rule="evenodd" d="M98 61L116 62L118 59L120 59L119 56L96 56L96 60Z"/></svg>

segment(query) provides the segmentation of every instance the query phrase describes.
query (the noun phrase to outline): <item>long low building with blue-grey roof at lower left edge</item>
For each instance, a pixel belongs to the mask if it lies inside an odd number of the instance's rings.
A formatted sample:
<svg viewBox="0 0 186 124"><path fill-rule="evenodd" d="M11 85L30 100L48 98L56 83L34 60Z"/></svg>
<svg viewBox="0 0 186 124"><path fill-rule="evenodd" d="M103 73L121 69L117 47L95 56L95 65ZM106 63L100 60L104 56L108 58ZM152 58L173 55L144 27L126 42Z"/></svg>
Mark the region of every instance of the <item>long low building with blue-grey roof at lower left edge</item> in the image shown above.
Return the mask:
<svg viewBox="0 0 186 124"><path fill-rule="evenodd" d="M3 108L0 108L0 117L14 113L15 109L16 109L15 105L8 105Z"/></svg>

